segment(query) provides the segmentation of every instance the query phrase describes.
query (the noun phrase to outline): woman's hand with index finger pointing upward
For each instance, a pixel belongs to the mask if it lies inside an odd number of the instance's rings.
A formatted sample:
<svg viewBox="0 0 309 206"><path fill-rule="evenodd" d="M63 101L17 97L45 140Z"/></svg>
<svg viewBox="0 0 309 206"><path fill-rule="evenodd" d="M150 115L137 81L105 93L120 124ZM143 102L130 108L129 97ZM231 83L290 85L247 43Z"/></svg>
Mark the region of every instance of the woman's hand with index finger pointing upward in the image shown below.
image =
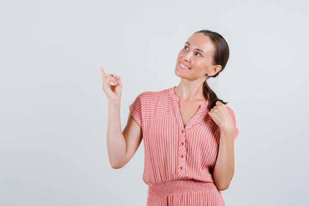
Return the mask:
<svg viewBox="0 0 309 206"><path fill-rule="evenodd" d="M103 90L109 101L120 101L122 84L120 78L113 74L105 74L105 71L100 67L103 79ZM112 82L112 84L111 84Z"/></svg>

